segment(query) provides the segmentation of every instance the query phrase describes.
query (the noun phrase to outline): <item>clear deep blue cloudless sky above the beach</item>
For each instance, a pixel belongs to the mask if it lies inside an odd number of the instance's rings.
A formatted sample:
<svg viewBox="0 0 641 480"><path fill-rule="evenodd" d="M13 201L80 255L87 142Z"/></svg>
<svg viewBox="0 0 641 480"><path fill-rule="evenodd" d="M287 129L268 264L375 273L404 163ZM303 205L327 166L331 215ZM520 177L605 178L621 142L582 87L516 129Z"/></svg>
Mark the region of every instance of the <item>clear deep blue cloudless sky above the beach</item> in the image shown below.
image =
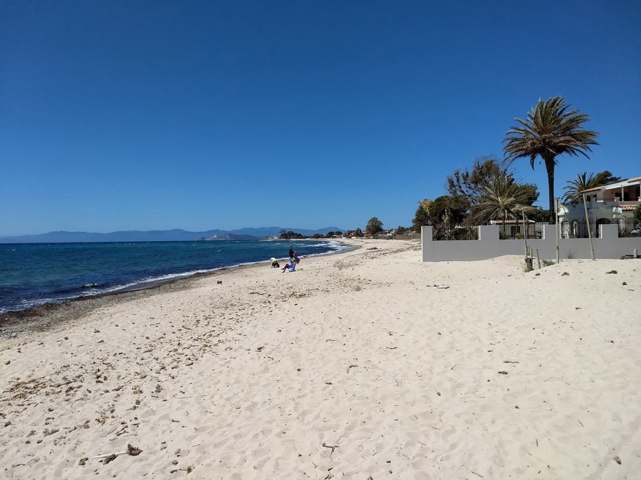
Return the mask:
<svg viewBox="0 0 641 480"><path fill-rule="evenodd" d="M641 175L641 3L0 0L0 236L410 226L562 95ZM516 164L547 208L543 164Z"/></svg>

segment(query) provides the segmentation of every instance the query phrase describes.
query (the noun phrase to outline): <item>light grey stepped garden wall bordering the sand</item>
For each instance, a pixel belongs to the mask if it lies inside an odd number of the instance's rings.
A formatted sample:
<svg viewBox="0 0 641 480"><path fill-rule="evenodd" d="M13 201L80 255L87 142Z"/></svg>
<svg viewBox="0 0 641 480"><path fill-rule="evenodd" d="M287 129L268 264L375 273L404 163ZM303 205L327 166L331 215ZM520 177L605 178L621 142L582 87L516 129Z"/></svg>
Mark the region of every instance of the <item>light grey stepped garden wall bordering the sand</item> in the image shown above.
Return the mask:
<svg viewBox="0 0 641 480"><path fill-rule="evenodd" d="M619 238L617 225L599 225L600 238L593 238L595 258L641 255L641 237ZM486 260L501 255L525 256L525 240L499 240L499 225L479 226L479 240L432 240L432 227L421 228L423 262L444 260ZM594 233L593 233L594 235ZM543 225L541 239L528 239L528 247L538 248L543 259L556 260L556 225ZM589 238L560 238L559 258L592 258Z"/></svg>

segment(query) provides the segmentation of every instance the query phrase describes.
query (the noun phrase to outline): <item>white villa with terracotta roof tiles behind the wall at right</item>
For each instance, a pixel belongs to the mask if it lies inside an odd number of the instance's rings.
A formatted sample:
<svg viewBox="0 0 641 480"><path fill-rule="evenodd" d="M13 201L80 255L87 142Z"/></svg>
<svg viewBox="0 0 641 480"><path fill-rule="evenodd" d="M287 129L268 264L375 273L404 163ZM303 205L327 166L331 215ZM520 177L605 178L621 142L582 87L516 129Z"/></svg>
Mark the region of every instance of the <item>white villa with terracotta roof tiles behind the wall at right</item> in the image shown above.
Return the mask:
<svg viewBox="0 0 641 480"><path fill-rule="evenodd" d="M633 210L641 204L641 176L602 185L581 191L585 194L588 217L595 225L618 223L621 228L630 227ZM583 236L581 223L585 223L583 202L559 206L558 222L564 238ZM632 225L634 226L634 225Z"/></svg>

